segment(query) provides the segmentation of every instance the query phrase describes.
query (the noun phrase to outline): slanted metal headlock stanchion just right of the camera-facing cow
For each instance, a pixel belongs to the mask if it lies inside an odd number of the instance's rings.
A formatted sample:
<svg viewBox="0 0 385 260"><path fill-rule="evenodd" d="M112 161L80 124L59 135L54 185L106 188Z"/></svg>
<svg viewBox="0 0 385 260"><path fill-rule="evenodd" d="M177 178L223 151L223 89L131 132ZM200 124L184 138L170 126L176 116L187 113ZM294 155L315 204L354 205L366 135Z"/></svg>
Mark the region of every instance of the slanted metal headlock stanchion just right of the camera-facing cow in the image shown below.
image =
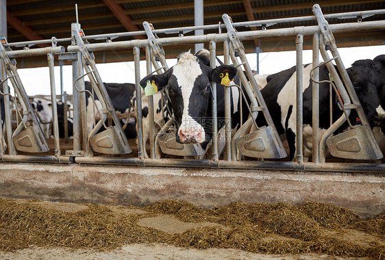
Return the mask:
<svg viewBox="0 0 385 260"><path fill-rule="evenodd" d="M283 158L286 157L286 151L280 140L280 135L278 135L277 130L274 127L273 119L269 114L269 110L264 103L263 96L258 88L256 79L253 76L249 62L247 62L245 48L243 47L242 42L236 34L236 30L232 25L232 21L227 14L222 16L223 22L225 23L227 29L227 35L229 40L232 43L233 51L230 51L230 57L232 57L232 62L238 70L238 75L245 87L245 90L251 100L251 112L250 118L245 122L245 125L240 127L240 129L234 134L232 140L232 154L233 159L236 159L236 151L238 148L241 155L256 157L256 158ZM236 54L240 57L241 64L239 64ZM247 81L243 70L240 66L243 65L249 81ZM245 101L246 102L246 101ZM258 105L259 104L259 105ZM253 124L255 124L256 117L258 112L262 112L266 122L268 123L267 127L257 127L257 130L253 133L246 135L245 131ZM255 124L256 125L256 124ZM241 137L241 135L243 135ZM236 144L236 146L234 145Z"/></svg>

